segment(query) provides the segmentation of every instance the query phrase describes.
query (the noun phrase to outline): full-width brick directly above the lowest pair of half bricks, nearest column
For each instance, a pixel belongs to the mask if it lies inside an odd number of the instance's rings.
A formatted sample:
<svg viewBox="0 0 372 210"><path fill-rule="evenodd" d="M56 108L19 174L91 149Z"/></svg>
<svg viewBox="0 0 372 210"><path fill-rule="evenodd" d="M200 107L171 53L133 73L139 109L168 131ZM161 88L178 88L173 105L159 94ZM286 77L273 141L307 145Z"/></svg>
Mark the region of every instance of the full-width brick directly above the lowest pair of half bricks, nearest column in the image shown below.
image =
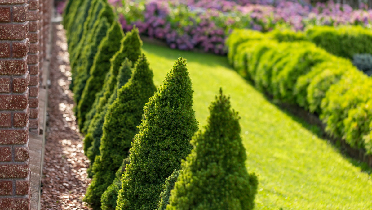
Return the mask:
<svg viewBox="0 0 372 210"><path fill-rule="evenodd" d="M26 178L28 164L0 164L0 178Z"/></svg>

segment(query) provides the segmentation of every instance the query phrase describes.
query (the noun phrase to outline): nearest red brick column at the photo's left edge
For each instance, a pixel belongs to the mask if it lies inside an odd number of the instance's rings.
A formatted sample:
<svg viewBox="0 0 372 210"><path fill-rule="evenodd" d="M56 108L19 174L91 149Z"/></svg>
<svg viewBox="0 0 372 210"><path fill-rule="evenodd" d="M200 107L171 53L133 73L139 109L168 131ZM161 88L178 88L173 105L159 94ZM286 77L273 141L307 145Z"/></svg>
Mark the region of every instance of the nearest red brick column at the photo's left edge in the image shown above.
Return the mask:
<svg viewBox="0 0 372 210"><path fill-rule="evenodd" d="M30 207L28 10L27 0L0 0L1 210Z"/></svg>

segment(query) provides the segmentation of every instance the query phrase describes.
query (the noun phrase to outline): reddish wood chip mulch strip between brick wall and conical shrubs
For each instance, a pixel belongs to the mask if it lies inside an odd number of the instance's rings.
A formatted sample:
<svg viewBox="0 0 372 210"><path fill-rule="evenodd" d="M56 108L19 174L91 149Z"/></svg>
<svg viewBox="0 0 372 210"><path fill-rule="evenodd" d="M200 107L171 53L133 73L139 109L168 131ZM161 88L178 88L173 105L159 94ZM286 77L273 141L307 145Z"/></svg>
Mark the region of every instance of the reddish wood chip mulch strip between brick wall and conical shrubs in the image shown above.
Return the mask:
<svg viewBox="0 0 372 210"><path fill-rule="evenodd" d="M53 23L48 122L42 176L42 210L89 210L82 201L90 182L83 141L74 116L69 55L63 26Z"/></svg>

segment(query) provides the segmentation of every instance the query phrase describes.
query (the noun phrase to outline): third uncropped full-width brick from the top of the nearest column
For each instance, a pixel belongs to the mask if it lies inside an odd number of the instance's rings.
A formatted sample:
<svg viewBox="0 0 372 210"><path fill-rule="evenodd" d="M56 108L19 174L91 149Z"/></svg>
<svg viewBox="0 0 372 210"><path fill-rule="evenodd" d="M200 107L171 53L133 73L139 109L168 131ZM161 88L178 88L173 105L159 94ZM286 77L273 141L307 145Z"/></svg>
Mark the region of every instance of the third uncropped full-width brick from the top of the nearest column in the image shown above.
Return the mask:
<svg viewBox="0 0 372 210"><path fill-rule="evenodd" d="M0 110L22 110L28 104L28 93L22 95L0 95Z"/></svg>

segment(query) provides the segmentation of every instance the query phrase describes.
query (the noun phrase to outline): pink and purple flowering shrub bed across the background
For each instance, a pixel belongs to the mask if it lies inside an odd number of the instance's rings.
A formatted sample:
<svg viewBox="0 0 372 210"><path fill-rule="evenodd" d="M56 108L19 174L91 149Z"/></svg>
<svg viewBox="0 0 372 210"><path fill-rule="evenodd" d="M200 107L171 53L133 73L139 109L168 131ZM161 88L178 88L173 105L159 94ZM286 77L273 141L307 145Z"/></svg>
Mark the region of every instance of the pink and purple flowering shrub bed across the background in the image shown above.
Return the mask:
<svg viewBox="0 0 372 210"><path fill-rule="evenodd" d="M371 28L372 10L353 10L347 4L315 6L285 0L109 0L120 14L125 31L166 41L171 48L201 48L225 54L225 38L234 28L271 31L304 30L308 25L361 25ZM255 3L255 4L253 4Z"/></svg>

